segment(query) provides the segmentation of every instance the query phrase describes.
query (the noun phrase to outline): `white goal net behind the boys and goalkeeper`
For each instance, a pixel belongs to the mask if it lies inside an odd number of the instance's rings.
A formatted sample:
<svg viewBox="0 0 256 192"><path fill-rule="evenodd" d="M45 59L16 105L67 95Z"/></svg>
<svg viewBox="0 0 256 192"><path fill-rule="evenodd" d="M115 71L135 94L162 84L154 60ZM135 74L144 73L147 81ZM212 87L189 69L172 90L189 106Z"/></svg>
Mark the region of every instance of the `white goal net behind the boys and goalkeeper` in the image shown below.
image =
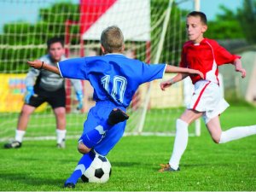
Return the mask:
<svg viewBox="0 0 256 192"><path fill-rule="evenodd" d="M193 0L0 0L0 141L15 136L26 92L27 60L47 54L46 41L65 39L68 58L101 55L100 34L117 25L124 32L125 55L148 63L178 65L186 41L184 20ZM186 5L186 6L184 6ZM189 5L189 6L188 6ZM184 9L186 7L186 9ZM166 75L164 79L170 79ZM161 79L162 80L162 79ZM160 90L160 80L143 84L127 112L127 135L174 135L175 120L191 95L189 79ZM66 79L67 137L77 137L95 102L93 88L83 81L84 108L78 111L73 86ZM200 122L190 135L200 134ZM55 115L47 103L29 120L25 139L55 137Z"/></svg>

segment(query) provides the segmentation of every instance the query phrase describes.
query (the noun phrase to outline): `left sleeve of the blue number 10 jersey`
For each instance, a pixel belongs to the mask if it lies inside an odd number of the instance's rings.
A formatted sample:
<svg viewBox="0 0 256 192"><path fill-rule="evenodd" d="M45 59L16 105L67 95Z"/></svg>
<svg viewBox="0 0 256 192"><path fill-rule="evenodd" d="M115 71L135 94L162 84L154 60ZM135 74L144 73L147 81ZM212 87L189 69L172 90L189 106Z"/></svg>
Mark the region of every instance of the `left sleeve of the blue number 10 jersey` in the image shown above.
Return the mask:
<svg viewBox="0 0 256 192"><path fill-rule="evenodd" d="M74 58L58 63L61 76L68 79L87 79L86 61L84 58Z"/></svg>

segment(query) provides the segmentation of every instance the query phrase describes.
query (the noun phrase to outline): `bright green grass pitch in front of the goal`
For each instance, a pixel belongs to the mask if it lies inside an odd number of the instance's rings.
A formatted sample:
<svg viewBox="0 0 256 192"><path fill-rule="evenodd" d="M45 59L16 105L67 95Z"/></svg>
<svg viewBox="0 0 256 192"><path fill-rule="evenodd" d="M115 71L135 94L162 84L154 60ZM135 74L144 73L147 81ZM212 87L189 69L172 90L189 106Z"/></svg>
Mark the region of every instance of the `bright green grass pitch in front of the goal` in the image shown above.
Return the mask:
<svg viewBox="0 0 256 192"><path fill-rule="evenodd" d="M231 107L221 115L224 130L256 123L256 108ZM19 149L0 148L0 190L3 191L255 191L256 136L226 144L212 142L202 125L201 137L189 137L181 172L157 172L172 152L174 137L123 137L108 154L108 183L79 183L63 189L80 158L76 139L66 149L55 141L25 141ZM0 143L3 146L3 143Z"/></svg>

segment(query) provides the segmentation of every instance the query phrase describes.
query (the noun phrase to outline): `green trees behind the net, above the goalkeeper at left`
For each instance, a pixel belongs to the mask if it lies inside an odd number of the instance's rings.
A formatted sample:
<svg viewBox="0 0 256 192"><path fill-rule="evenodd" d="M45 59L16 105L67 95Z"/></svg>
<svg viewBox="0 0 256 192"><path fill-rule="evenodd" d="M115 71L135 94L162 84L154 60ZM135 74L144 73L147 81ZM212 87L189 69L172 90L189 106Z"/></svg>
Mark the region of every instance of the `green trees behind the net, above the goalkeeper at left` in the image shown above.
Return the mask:
<svg viewBox="0 0 256 192"><path fill-rule="evenodd" d="M49 8L40 9L38 17L35 24L15 22L3 26L0 44L5 47L0 48L0 73L25 73L28 59L37 59L46 53L46 41L49 38L64 38L66 20L79 20L79 5L54 3ZM78 33L79 26L70 27L70 32ZM39 44L45 46L37 47Z"/></svg>

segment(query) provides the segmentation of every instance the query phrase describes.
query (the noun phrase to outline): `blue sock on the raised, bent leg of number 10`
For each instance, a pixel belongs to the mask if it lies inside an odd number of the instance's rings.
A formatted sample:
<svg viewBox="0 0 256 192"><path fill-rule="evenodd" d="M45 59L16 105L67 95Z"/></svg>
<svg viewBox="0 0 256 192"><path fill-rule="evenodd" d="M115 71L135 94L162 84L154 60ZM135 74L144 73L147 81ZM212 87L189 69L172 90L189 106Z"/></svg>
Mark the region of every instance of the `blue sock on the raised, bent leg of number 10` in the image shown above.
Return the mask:
<svg viewBox="0 0 256 192"><path fill-rule="evenodd" d="M86 132L81 137L84 145L86 145L88 148L95 147L97 143L102 141L102 138L105 137L105 134L110 127L111 125L108 125L108 123L105 122L105 123L102 123L102 125L97 125L91 131Z"/></svg>

